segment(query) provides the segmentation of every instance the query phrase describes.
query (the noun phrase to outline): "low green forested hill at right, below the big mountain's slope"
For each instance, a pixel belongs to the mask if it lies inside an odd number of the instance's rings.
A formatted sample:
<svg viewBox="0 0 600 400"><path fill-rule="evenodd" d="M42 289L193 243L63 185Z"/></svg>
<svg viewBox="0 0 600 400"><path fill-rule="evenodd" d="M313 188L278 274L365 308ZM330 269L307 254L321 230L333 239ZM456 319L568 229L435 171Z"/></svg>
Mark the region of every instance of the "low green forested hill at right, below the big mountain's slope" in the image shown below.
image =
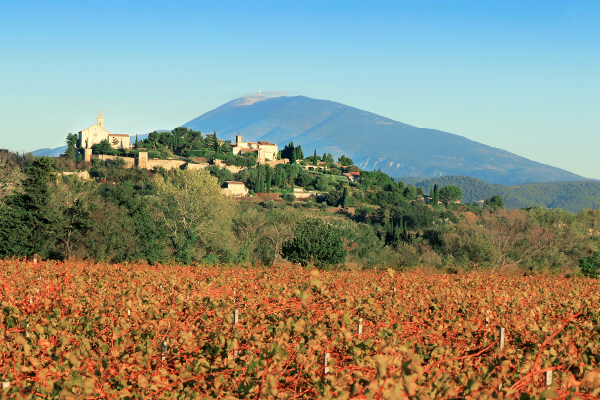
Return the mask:
<svg viewBox="0 0 600 400"><path fill-rule="evenodd" d="M536 182L516 186L487 184L472 176L442 176L442 178L424 179L415 182L415 178L396 178L405 184L421 187L425 193L437 184L440 188L445 185L456 185L463 191L461 202L474 203L478 200L490 199L499 194L506 208L522 207L562 208L578 212L584 208L600 207L600 182Z"/></svg>

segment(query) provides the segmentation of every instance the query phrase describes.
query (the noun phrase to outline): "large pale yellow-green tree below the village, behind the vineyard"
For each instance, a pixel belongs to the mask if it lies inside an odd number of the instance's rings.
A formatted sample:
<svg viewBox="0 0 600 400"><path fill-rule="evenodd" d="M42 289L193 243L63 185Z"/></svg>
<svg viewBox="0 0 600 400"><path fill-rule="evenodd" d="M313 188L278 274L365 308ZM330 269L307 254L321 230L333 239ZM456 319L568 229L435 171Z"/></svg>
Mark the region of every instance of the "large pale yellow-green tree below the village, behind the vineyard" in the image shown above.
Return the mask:
<svg viewBox="0 0 600 400"><path fill-rule="evenodd" d="M164 176L156 174L151 188L160 200L160 215L178 260L190 263L194 249L214 250L229 231L234 200L221 194L217 178L208 171L170 170Z"/></svg>

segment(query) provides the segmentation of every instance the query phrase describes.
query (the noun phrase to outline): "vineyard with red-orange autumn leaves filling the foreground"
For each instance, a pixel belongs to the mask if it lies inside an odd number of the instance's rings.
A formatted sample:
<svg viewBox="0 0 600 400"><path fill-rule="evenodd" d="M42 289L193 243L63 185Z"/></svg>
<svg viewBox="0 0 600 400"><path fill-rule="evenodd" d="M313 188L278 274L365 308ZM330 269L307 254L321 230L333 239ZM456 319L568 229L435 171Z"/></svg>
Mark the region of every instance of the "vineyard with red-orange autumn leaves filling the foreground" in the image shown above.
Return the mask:
<svg viewBox="0 0 600 400"><path fill-rule="evenodd" d="M2 398L600 393L595 279L29 261L0 276Z"/></svg>

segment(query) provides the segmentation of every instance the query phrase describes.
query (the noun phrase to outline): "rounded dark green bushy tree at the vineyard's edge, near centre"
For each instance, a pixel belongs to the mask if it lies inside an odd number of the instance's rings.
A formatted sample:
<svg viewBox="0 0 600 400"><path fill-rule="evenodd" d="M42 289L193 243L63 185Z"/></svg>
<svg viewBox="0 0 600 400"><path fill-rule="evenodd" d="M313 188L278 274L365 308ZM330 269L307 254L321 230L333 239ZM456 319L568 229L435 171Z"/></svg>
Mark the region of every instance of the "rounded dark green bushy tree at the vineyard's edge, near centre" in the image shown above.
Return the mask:
<svg viewBox="0 0 600 400"><path fill-rule="evenodd" d="M283 243L283 257L293 263L317 267L341 264L346 260L346 249L341 230L319 218L303 218L293 225L294 238Z"/></svg>

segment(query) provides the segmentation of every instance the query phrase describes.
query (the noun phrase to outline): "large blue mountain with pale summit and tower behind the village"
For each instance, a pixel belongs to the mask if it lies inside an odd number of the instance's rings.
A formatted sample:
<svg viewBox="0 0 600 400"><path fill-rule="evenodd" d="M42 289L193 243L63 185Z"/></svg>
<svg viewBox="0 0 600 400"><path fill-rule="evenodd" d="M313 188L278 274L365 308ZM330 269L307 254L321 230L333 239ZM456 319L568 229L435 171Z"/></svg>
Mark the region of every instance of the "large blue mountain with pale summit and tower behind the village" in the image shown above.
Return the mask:
<svg viewBox="0 0 600 400"><path fill-rule="evenodd" d="M239 132L245 140L280 148L293 140L305 154L344 154L362 169L380 168L390 176L469 175L505 185L586 180L466 137L304 96L242 97L182 126L232 140Z"/></svg>

